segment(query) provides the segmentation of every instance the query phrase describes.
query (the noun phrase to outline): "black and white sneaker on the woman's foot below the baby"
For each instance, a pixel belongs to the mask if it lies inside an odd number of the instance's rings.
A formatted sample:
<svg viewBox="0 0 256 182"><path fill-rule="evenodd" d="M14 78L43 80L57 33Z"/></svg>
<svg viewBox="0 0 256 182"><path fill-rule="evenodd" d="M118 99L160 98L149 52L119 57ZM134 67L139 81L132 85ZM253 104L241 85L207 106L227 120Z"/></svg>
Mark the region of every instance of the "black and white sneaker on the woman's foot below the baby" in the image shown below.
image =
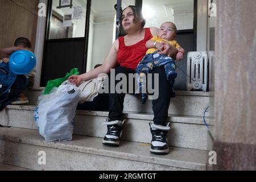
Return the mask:
<svg viewBox="0 0 256 182"><path fill-rule="evenodd" d="M166 126L155 125L149 123L152 134L150 152L158 155L166 155L169 153L167 142L167 133L170 130L170 122Z"/></svg>

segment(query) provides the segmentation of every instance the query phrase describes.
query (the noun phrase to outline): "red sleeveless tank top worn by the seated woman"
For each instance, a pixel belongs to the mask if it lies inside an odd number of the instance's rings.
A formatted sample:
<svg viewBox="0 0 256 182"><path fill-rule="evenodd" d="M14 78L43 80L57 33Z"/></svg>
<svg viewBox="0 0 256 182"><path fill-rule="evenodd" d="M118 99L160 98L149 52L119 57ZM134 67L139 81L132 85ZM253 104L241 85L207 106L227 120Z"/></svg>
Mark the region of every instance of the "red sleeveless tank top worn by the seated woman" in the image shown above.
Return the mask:
<svg viewBox="0 0 256 182"><path fill-rule="evenodd" d="M144 39L131 46L125 46L125 40L123 36L118 38L119 49L117 53L117 62L121 65L121 67L136 69L139 61L141 61L142 58L146 55L146 42L153 36L150 32L150 28L144 28L144 30Z"/></svg>

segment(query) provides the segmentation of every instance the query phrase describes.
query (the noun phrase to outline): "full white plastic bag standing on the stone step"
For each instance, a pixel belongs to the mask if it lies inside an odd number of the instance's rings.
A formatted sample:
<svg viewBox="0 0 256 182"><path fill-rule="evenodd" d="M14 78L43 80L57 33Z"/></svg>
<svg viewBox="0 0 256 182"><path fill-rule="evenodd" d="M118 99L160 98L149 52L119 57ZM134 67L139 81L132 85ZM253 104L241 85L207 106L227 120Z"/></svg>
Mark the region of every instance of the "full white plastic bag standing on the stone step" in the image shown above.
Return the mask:
<svg viewBox="0 0 256 182"><path fill-rule="evenodd" d="M34 120L40 135L46 142L72 140L80 90L65 81L59 88L53 89L50 94L41 98L34 112Z"/></svg>

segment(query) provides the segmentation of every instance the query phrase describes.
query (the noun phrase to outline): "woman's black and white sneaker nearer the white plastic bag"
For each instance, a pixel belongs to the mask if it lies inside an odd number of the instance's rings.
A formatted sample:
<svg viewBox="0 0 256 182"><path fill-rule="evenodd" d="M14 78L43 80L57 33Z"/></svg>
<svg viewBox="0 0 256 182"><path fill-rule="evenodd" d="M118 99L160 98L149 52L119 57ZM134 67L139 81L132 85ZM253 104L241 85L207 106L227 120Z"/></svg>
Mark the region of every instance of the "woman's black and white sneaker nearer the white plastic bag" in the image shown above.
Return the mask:
<svg viewBox="0 0 256 182"><path fill-rule="evenodd" d="M123 123L125 123L126 120L123 121L109 121L106 119L106 122L104 122L105 125L108 127L108 132L106 133L102 143L107 146L119 146L119 139L122 136L122 127Z"/></svg>

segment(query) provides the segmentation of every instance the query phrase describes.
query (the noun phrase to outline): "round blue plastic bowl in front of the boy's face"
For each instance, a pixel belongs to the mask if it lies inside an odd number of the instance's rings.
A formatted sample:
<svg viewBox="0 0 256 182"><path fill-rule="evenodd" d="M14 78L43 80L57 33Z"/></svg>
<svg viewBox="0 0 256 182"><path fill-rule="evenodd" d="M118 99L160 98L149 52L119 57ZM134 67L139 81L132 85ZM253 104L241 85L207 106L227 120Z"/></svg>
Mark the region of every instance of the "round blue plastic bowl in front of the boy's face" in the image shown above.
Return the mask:
<svg viewBox="0 0 256 182"><path fill-rule="evenodd" d="M10 70L17 75L25 75L31 72L35 65L36 56L26 50L15 51L9 59Z"/></svg>

